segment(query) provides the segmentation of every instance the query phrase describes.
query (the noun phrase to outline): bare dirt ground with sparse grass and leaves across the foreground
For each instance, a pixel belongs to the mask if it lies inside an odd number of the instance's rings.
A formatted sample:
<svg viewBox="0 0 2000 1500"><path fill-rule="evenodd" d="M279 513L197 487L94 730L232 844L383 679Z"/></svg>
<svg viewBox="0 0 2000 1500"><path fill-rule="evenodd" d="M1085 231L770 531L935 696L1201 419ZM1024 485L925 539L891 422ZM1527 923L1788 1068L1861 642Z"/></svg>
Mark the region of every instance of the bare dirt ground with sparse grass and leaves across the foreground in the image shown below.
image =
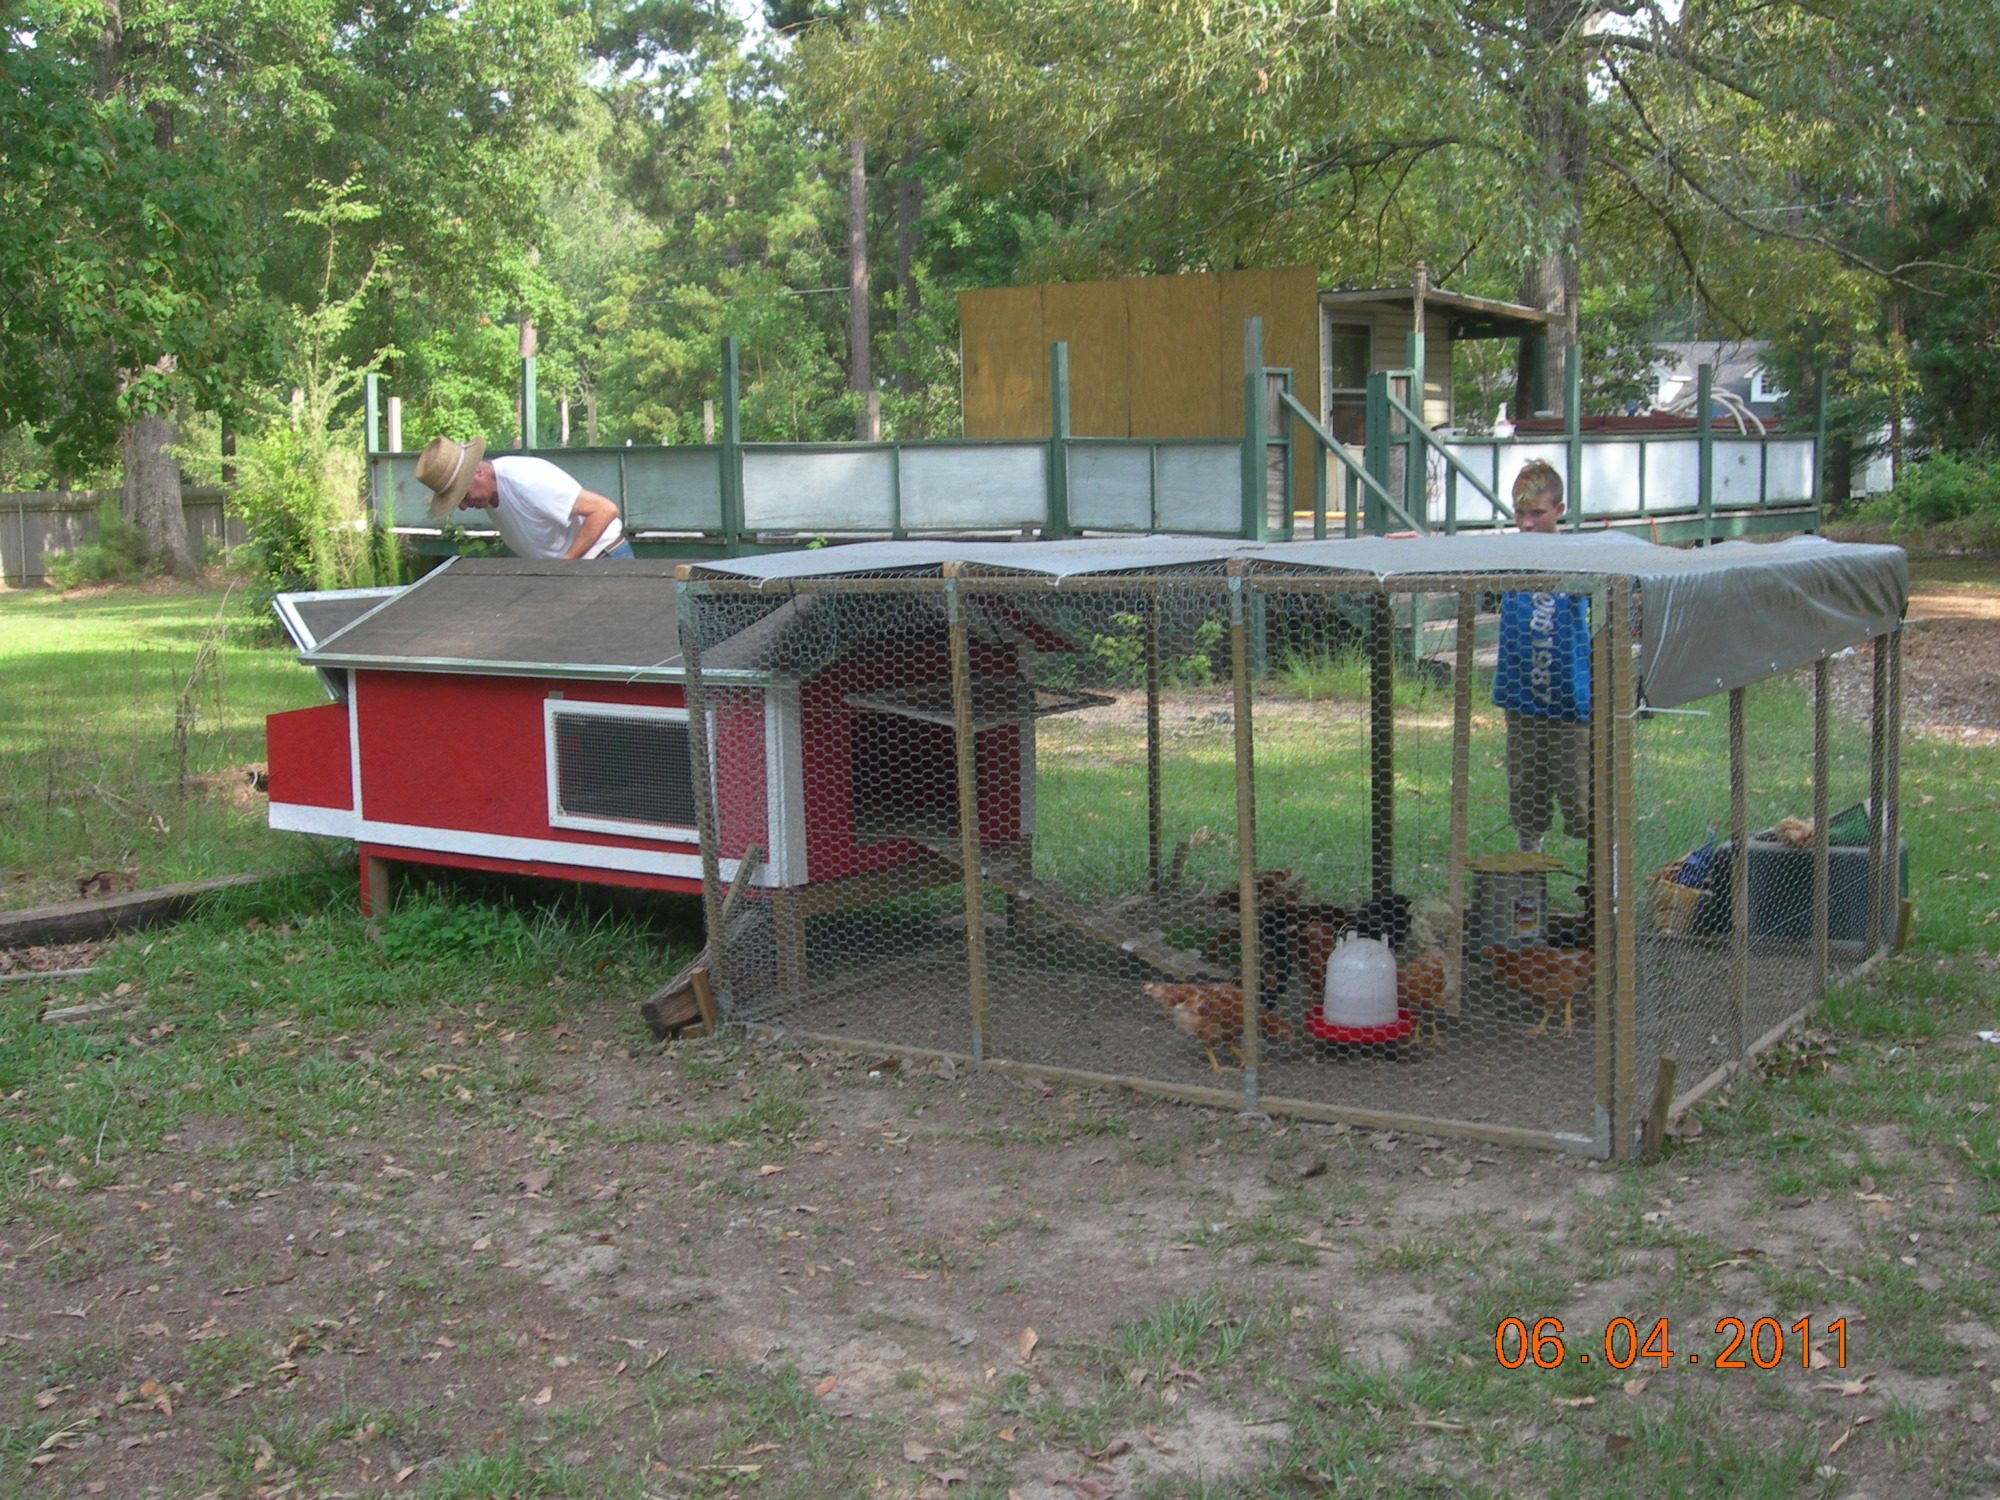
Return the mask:
<svg viewBox="0 0 2000 1500"><path fill-rule="evenodd" d="M1910 732L2000 740L2000 590L1912 616ZM2000 1494L1972 1148L1860 1116L1794 1158L1724 1110L1600 1168L660 1048L614 990L536 1030L440 996L326 1042L366 1130L196 1116L94 1162L78 1118L64 1160L12 1162L0 1494ZM244 1046L284 1040L274 1012ZM140 1010L76 1066L172 1044ZM1772 1074L1874 1080L1898 1046L1808 1038ZM1926 1046L1990 1076L1970 1036ZM462 1100L468 1070L512 1092ZM1502 1316L1582 1350L1670 1318L1676 1362L1508 1372ZM1714 1368L1716 1324L1762 1316L1810 1318L1818 1358Z"/></svg>

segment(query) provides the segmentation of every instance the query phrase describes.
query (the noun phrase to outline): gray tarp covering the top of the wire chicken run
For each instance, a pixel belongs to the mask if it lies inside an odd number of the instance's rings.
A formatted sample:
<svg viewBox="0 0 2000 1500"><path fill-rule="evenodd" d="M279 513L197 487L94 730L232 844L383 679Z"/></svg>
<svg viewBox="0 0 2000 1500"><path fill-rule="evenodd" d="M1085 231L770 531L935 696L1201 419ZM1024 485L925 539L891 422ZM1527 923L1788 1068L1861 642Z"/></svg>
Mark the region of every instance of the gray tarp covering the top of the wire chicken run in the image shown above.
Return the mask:
<svg viewBox="0 0 2000 1500"><path fill-rule="evenodd" d="M966 562L980 570L1068 578L1204 568L1230 558L1364 574L1390 586L1398 576L1418 574L1630 578L1640 596L1640 694L1654 708L1742 688L1860 646L1894 630L1910 596L1910 566L1898 546L1794 536L1684 550L1622 532L1488 532L1352 542L1218 542L1198 536L858 542L702 562L696 576L782 584L850 574L928 574L946 562Z"/></svg>

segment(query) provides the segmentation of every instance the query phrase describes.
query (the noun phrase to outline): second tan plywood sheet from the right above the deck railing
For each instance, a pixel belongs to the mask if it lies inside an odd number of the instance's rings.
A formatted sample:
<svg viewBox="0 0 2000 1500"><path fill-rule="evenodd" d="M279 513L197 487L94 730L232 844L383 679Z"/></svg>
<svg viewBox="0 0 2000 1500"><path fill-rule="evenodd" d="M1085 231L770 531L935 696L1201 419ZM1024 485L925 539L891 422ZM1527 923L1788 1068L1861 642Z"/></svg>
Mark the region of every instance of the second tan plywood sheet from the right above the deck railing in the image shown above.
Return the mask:
<svg viewBox="0 0 2000 1500"><path fill-rule="evenodd" d="M1134 438L1220 438L1242 432L1216 380L1220 336L1214 276L1136 276L1124 282L1130 330L1128 386ZM1232 348L1240 350L1240 342ZM1242 354L1236 354L1242 390ZM1232 402L1242 406L1238 396Z"/></svg>

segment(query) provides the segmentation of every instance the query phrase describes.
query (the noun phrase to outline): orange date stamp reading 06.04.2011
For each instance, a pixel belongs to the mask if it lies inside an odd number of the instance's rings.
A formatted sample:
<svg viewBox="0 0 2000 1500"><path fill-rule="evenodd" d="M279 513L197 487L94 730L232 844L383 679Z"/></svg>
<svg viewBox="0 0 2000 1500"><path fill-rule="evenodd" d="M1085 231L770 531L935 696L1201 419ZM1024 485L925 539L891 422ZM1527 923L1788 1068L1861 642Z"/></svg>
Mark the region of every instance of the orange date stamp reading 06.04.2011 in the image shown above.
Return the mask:
<svg viewBox="0 0 2000 1500"><path fill-rule="evenodd" d="M1494 1328L1494 1358L1506 1370L1534 1366L1560 1370L1566 1364L1608 1364L1630 1370L1648 1364L1666 1370L1676 1364L1710 1370L1776 1370L1796 1362L1802 1370L1844 1370L1848 1364L1848 1320L1812 1326L1812 1316L1796 1322L1778 1318L1718 1318L1712 1342L1698 1348L1676 1346L1666 1318L1640 1326L1632 1318L1612 1318L1602 1338L1578 1338L1562 1318L1502 1318Z"/></svg>

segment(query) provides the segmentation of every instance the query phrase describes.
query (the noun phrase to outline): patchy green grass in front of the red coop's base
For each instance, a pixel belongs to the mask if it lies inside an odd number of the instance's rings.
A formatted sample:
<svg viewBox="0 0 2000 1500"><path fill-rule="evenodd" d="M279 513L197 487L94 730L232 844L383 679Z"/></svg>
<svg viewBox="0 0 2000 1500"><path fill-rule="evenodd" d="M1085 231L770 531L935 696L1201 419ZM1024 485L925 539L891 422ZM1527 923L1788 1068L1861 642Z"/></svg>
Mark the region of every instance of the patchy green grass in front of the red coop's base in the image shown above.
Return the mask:
<svg viewBox="0 0 2000 1500"><path fill-rule="evenodd" d="M514 908L468 898L464 910L498 924ZM142 1046L106 1052L96 1028L0 1012L0 1092L18 1090L0 1114L0 1210L60 1228L70 1212L62 1194L24 1164L88 1186L130 1170L196 1118L238 1122L244 1174L270 1180L296 1176L298 1142L370 1130L410 1098L468 1130L510 1120L538 1084L494 1044L496 1032L556 1024L602 994L630 998L642 974L672 964L672 948L580 898L520 920L540 940L484 956L486 988L470 996L460 956L388 956L354 910L348 878L330 870L278 892L230 892L204 916L120 942L68 996L104 998L130 984L126 998L142 1004L126 1030ZM462 1048L452 1046L458 1036ZM448 1070L432 1066L440 1038ZM772 1096L706 1126L706 1138L782 1144L798 1120L796 1104Z"/></svg>

